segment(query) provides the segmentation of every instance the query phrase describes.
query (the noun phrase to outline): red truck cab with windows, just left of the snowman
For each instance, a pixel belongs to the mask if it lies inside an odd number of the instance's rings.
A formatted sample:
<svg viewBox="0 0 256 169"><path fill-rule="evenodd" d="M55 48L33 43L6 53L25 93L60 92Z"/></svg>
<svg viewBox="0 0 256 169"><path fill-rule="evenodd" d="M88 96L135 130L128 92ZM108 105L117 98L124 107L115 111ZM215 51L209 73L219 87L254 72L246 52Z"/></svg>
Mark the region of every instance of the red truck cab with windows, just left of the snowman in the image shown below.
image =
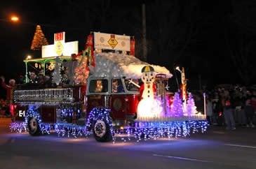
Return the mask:
<svg viewBox="0 0 256 169"><path fill-rule="evenodd" d="M88 78L86 112L95 107L109 108L114 126L136 119L139 89L123 78Z"/></svg>

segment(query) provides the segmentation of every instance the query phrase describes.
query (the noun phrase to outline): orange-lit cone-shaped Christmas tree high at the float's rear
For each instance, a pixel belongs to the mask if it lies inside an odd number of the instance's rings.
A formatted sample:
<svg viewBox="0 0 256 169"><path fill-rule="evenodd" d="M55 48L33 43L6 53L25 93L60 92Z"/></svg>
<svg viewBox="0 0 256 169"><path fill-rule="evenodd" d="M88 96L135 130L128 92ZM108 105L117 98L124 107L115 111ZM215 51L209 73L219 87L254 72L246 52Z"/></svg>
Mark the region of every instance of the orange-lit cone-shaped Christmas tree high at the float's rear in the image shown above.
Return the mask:
<svg viewBox="0 0 256 169"><path fill-rule="evenodd" d="M48 45L48 41L44 36L40 25L36 25L36 31L34 32L34 38L30 49L41 50L42 45Z"/></svg>

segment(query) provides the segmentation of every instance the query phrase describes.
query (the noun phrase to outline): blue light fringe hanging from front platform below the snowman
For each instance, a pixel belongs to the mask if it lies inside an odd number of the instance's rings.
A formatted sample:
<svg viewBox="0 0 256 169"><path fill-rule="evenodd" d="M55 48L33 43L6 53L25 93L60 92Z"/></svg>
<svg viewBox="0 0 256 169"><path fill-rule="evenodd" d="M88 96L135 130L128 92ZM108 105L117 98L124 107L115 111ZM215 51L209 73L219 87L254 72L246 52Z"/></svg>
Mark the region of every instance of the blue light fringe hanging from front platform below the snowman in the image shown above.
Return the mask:
<svg viewBox="0 0 256 169"><path fill-rule="evenodd" d="M207 121L184 121L184 122L135 122L135 127L124 128L115 131L116 135L123 135L121 140L131 140L131 136L140 140L159 138L187 137L191 133L205 133L208 127Z"/></svg>

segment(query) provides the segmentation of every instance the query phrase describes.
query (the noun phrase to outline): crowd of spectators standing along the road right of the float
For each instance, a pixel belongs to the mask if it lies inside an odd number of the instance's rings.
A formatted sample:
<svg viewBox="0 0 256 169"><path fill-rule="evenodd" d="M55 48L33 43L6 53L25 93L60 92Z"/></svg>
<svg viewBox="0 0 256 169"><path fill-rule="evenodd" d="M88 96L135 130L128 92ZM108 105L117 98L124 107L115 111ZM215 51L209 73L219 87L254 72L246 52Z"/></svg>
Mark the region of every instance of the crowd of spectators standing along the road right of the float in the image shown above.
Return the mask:
<svg viewBox="0 0 256 169"><path fill-rule="evenodd" d="M200 112L204 112L203 93L206 93L206 115L210 125L226 126L227 130L235 130L236 126L255 127L256 88L236 85L194 91Z"/></svg>

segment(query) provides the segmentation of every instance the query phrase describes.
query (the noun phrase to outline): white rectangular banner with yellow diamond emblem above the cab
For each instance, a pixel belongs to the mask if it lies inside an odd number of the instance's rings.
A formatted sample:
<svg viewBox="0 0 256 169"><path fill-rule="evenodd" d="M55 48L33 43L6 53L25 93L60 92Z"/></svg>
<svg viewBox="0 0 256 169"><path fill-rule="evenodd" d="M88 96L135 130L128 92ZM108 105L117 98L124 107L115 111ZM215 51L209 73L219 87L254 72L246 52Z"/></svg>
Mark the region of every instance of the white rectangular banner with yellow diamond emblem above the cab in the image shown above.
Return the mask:
<svg viewBox="0 0 256 169"><path fill-rule="evenodd" d="M130 36L94 32L95 49L130 51Z"/></svg>

